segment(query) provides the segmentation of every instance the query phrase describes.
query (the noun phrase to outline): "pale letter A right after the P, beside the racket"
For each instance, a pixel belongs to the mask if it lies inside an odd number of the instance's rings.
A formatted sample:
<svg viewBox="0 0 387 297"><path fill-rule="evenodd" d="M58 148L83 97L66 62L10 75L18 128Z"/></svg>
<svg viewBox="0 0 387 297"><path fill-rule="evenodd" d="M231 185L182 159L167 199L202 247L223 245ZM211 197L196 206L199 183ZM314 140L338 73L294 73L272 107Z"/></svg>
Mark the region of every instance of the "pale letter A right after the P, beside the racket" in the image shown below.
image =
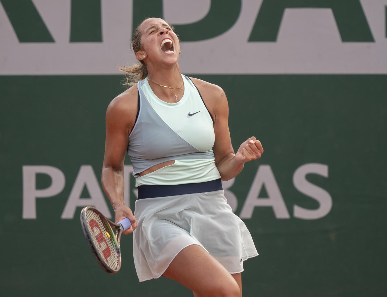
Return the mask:
<svg viewBox="0 0 387 297"><path fill-rule="evenodd" d="M82 190L87 187L90 198L81 198ZM99 187L98 180L94 174L91 165L80 166L74 186L67 199L65 209L62 212L62 219L72 219L75 214L75 209L79 206L94 206L102 214L108 218L111 217L108 205Z"/></svg>

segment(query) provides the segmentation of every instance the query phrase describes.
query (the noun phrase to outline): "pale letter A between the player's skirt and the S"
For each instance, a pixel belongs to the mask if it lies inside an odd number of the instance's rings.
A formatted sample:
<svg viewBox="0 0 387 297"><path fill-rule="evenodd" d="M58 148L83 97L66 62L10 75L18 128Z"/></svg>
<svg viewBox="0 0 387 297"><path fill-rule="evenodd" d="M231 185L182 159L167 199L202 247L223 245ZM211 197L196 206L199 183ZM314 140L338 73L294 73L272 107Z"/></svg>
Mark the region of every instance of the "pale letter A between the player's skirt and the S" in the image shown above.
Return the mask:
<svg viewBox="0 0 387 297"><path fill-rule="evenodd" d="M265 185L267 195L269 196L268 198L258 197L263 185ZM253 215L254 208L257 206L271 206L277 219L290 218L284 199L274 178L273 171L269 165L259 166L239 216L242 219L250 219Z"/></svg>

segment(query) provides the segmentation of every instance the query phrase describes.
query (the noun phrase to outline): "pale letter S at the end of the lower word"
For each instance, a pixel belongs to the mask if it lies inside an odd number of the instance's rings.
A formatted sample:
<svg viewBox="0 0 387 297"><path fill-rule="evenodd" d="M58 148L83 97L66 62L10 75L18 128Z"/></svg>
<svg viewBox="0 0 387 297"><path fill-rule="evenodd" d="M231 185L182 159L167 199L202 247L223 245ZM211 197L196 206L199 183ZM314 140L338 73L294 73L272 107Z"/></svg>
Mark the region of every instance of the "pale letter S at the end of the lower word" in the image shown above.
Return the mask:
<svg viewBox="0 0 387 297"><path fill-rule="evenodd" d="M308 163L298 167L293 175L293 184L301 193L317 200L320 207L318 209L305 209L298 205L293 207L293 216L299 219L314 220L326 216L332 209L332 197L324 189L308 182L306 175L314 173L323 177L328 177L328 165L318 163Z"/></svg>

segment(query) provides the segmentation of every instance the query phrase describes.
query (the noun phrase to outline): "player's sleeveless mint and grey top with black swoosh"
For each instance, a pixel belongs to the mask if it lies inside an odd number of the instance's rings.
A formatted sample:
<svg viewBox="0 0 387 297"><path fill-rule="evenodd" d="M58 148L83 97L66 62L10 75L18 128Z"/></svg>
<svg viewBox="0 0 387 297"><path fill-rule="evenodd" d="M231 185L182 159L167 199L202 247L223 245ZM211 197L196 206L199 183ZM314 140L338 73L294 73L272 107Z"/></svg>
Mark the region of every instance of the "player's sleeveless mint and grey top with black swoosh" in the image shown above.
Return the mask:
<svg viewBox="0 0 387 297"><path fill-rule="evenodd" d="M215 166L214 127L194 83L182 75L184 94L170 104L156 97L147 78L137 83L139 110L129 135L128 155L136 186L197 183L220 178ZM152 173L138 173L175 160Z"/></svg>

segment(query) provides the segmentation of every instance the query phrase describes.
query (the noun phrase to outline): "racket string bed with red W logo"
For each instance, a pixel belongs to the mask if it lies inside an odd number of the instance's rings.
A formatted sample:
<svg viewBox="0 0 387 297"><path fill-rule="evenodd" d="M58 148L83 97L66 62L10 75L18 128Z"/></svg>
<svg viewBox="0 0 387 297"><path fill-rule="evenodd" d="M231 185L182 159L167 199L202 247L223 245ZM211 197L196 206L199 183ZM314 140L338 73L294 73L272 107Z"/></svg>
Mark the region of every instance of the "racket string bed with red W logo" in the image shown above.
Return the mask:
<svg viewBox="0 0 387 297"><path fill-rule="evenodd" d="M86 221L88 233L99 253L99 258L111 269L116 269L120 261L120 251L110 226L92 210L86 212Z"/></svg>

